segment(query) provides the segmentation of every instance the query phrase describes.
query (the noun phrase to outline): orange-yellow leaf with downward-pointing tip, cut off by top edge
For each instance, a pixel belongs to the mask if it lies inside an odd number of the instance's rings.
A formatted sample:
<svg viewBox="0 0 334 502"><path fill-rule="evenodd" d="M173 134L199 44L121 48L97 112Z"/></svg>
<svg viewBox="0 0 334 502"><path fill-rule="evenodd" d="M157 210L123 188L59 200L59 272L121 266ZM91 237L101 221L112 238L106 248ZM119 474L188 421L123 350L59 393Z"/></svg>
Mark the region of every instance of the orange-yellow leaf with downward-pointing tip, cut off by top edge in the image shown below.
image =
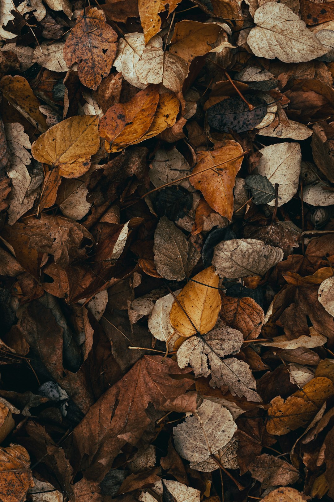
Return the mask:
<svg viewBox="0 0 334 502"><path fill-rule="evenodd" d="M169 14L171 14L179 3L180 0L160 0L153 4L150 0L138 0L138 11L140 22L144 30L145 44L160 31L161 19L159 13L163 12L168 4L168 11Z"/></svg>

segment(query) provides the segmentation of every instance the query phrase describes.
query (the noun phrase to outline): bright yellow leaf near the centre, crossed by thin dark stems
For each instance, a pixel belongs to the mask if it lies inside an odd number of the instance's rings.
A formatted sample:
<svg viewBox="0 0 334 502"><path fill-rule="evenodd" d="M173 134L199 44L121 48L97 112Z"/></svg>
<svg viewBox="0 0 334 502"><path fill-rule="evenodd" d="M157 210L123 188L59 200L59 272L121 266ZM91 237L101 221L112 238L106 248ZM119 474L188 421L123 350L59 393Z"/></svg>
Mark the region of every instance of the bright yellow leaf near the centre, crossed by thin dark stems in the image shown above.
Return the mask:
<svg viewBox="0 0 334 502"><path fill-rule="evenodd" d="M182 336L191 336L196 330L207 333L216 324L221 307L218 281L214 268L208 267L193 277L177 295L170 322Z"/></svg>

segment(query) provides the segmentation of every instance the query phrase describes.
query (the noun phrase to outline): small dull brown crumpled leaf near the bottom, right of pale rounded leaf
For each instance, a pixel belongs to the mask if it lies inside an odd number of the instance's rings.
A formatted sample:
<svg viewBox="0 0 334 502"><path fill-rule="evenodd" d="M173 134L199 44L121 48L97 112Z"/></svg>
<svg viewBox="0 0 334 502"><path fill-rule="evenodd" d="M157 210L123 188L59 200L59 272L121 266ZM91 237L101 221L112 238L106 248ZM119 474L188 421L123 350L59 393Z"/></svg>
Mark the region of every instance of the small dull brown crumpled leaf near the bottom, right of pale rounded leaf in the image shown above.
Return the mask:
<svg viewBox="0 0 334 502"><path fill-rule="evenodd" d="M299 471L282 458L263 453L255 457L249 465L249 470L254 479L262 483L262 488L286 486L299 479Z"/></svg>

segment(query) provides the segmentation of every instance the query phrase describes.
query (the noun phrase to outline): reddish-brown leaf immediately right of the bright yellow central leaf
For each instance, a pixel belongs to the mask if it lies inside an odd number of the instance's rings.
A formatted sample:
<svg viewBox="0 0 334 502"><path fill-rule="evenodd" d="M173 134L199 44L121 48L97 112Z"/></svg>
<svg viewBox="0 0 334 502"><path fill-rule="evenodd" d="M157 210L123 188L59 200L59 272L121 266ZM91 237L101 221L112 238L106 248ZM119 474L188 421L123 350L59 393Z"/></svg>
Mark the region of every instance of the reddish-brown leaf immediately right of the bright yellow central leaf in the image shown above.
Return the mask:
<svg viewBox="0 0 334 502"><path fill-rule="evenodd" d="M228 326L238 329L245 340L257 338L264 323L264 312L252 298L234 298L220 294L220 317Z"/></svg>

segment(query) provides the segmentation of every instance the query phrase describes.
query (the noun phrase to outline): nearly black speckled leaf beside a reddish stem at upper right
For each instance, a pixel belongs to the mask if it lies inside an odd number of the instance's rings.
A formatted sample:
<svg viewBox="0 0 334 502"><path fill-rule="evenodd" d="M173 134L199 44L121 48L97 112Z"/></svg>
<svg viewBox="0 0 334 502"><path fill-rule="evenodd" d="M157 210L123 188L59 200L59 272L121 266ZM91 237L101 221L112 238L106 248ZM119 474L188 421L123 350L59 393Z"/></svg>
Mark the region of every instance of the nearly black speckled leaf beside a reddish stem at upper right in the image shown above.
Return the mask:
<svg viewBox="0 0 334 502"><path fill-rule="evenodd" d="M209 126L222 133L230 129L236 133L250 131L261 122L267 112L267 103L258 96L245 95L255 108L249 110L239 96L229 97L207 109Z"/></svg>

